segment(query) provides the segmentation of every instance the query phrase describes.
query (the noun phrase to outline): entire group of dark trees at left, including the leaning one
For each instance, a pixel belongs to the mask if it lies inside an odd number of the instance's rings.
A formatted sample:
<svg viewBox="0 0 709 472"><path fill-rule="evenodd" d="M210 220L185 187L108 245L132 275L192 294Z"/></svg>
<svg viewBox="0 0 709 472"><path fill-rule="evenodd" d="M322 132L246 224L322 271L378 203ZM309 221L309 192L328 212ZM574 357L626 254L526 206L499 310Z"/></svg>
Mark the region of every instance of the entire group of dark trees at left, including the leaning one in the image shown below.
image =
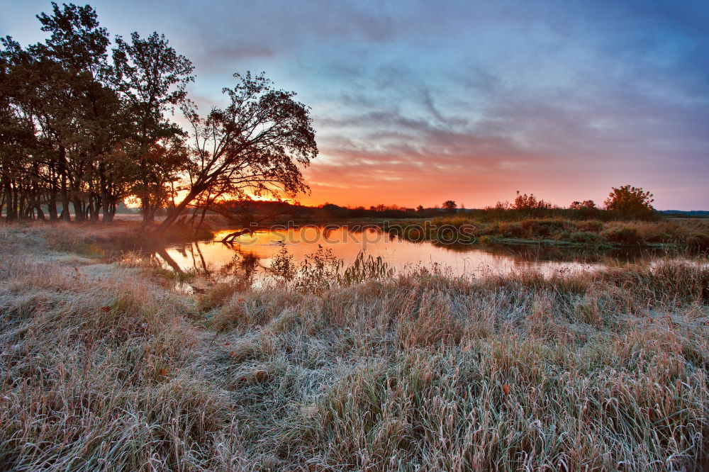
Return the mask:
<svg viewBox="0 0 709 472"><path fill-rule="evenodd" d="M317 155L308 108L264 74L235 74L224 108L202 116L186 86L194 67L164 35L111 38L91 6L52 3L48 33L22 47L1 38L0 210L7 220L111 221L140 203L160 230L225 199L306 191ZM179 108L189 123L172 118ZM45 213L46 212L46 213Z"/></svg>

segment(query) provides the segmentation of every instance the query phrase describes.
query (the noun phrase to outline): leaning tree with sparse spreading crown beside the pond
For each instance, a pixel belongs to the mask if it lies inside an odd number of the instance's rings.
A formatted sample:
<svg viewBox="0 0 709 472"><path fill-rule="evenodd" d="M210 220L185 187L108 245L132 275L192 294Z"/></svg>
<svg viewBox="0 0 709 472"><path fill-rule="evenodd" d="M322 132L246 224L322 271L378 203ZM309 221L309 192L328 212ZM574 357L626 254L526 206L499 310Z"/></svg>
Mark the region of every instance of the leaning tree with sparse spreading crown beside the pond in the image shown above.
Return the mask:
<svg viewBox="0 0 709 472"><path fill-rule="evenodd" d="M193 103L182 110L191 124L191 156L184 199L157 228L164 232L182 210L213 192L233 198L281 198L308 191L301 167L317 156L308 108L295 94L274 89L264 74L234 74L229 104L205 118Z"/></svg>

